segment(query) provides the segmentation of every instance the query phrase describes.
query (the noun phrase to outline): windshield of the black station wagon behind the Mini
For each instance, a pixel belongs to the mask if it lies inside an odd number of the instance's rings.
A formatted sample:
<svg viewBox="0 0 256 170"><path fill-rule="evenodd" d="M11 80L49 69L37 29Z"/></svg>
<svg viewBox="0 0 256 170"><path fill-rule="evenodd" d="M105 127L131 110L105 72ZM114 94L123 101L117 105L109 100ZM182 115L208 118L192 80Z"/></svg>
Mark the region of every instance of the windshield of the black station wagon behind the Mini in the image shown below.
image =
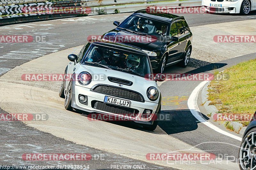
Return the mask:
<svg viewBox="0 0 256 170"><path fill-rule="evenodd" d="M125 28L134 32L141 32L154 36L166 36L168 25L164 22L156 21L150 18L132 15L125 19L118 28Z"/></svg>

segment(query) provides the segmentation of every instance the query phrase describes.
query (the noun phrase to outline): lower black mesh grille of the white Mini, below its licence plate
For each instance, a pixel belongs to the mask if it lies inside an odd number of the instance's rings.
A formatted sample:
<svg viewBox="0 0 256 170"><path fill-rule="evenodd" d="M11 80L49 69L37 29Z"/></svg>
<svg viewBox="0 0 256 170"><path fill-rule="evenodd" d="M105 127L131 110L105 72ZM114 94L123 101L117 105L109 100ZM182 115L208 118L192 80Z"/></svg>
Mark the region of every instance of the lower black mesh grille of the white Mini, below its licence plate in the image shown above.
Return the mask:
<svg viewBox="0 0 256 170"><path fill-rule="evenodd" d="M94 103L94 102L92 102L92 103ZM120 106L116 106L116 105L106 104L103 102L95 102L94 105L92 105L92 106L98 110L115 113L115 114L120 114L120 115L131 116L131 117L136 117L139 113L139 110L136 110L136 109L120 107Z"/></svg>

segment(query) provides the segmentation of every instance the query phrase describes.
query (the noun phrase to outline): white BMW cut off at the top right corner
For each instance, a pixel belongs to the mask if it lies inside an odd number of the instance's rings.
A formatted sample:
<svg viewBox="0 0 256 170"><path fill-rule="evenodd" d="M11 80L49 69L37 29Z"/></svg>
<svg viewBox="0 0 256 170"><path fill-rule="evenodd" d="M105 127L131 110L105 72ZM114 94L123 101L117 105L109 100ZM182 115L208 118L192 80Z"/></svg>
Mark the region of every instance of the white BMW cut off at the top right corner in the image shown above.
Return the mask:
<svg viewBox="0 0 256 170"><path fill-rule="evenodd" d="M202 9L210 13L247 15L256 10L256 0L202 0Z"/></svg>

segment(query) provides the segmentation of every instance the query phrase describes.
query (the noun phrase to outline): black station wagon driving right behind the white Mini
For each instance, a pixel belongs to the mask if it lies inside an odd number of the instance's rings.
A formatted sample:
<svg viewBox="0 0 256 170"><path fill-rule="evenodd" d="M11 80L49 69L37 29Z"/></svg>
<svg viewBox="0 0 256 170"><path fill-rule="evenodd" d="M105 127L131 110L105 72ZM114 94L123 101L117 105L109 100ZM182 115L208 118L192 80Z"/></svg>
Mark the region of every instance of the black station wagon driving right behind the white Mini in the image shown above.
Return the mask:
<svg viewBox="0 0 256 170"><path fill-rule="evenodd" d="M101 38L119 42L120 39L127 39L123 43L148 54L155 73L163 73L164 67L176 63L187 67L192 50L192 33L184 17L161 11L139 10L121 24L117 21L113 24L117 27ZM135 41L131 41L132 36Z"/></svg>

